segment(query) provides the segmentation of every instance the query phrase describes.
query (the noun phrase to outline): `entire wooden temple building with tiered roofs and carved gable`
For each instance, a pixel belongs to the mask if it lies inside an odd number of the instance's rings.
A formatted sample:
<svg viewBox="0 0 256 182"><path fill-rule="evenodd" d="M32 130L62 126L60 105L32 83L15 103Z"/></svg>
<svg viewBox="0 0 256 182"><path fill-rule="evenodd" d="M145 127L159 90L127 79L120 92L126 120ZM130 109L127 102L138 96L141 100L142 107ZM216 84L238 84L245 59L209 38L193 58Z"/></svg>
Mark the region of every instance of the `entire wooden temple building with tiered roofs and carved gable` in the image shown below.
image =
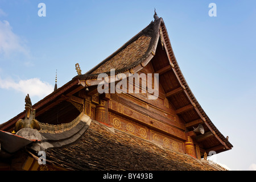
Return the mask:
<svg viewBox="0 0 256 182"><path fill-rule="evenodd" d="M0 125L0 170L225 170L205 159L233 146L197 102L163 19L154 18L87 73L76 64L78 75L36 104L26 96L25 110ZM144 73L153 88L99 93L110 69L112 84L120 73Z"/></svg>

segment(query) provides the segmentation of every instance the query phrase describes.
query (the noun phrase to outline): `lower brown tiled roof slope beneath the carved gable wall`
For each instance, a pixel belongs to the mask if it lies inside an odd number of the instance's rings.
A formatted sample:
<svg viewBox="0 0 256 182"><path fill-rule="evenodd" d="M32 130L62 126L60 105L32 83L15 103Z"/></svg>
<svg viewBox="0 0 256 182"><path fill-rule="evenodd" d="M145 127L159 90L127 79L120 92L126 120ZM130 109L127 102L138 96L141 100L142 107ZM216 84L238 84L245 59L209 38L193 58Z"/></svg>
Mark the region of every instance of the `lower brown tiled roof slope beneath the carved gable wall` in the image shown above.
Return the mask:
<svg viewBox="0 0 256 182"><path fill-rule="evenodd" d="M69 170L218 170L134 135L116 129L113 133L97 121L76 142L46 156L49 163Z"/></svg>

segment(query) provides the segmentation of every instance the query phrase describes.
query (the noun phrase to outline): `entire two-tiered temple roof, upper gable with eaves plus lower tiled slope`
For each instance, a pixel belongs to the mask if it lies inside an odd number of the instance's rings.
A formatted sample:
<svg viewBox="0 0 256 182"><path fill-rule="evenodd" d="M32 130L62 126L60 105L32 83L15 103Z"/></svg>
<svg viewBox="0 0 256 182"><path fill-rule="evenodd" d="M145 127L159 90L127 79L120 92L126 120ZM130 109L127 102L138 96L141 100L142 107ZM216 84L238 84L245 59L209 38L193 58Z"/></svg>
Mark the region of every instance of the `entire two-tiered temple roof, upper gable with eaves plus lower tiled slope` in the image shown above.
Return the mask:
<svg viewBox="0 0 256 182"><path fill-rule="evenodd" d="M160 59L162 58L161 56L164 59ZM193 95L187 81L185 81L174 56L162 18L151 22L146 28L123 44L121 48L96 65L96 67L90 69L84 75L73 77L67 84L56 89L32 107L36 109L37 113L42 114L48 108L65 101L66 97L71 97L72 94L83 89L84 86L80 85L83 80L85 80L87 86L97 85L96 78L100 73L109 74L110 69L115 69L116 74L130 73L131 70L133 70L133 73L136 73L146 67L147 64L152 64L155 68L155 73L161 74L159 82L163 85L164 93L166 93L164 97L168 98L174 106L176 114L184 120L186 125L183 128L184 131L192 129L192 124L195 121L196 123L200 121L204 125L205 131L210 135L207 140L201 141L205 148L209 150L214 148L218 153L233 147L228 139L210 121ZM90 81L89 84L87 84L87 81ZM16 121L24 118L24 116L25 112L16 115L10 121L0 125L0 130L11 131ZM203 160L192 158L192 156L177 151L168 150L158 146L158 144L123 133L118 129L113 129L113 127L108 127L97 121L92 121L90 126L86 126L82 122L76 123L76 127L63 134L53 134L47 130L45 131L45 133L44 131L41 132L45 140L39 143L46 142L46 149L52 148L47 150L47 159L53 165L66 169L217 169L209 163L202 163ZM2 134L6 135L5 132L2 132ZM58 146L57 141L53 139L55 138L54 136L60 138L64 136L68 142L61 139L64 142L60 146L65 147ZM51 141L51 146L53 147L48 145L48 141ZM35 142L32 143L35 144ZM69 144L68 146L66 146L67 143ZM39 145L39 147L42 146ZM36 147L33 150L38 151Z"/></svg>

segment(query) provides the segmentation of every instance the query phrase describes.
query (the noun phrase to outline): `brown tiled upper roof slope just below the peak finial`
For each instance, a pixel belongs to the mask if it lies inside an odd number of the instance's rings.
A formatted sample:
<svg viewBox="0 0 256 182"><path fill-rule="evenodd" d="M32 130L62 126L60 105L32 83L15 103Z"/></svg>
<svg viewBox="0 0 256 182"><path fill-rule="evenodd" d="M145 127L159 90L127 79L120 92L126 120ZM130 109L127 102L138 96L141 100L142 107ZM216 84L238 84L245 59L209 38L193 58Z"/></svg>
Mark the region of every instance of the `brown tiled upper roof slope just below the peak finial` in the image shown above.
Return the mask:
<svg viewBox="0 0 256 182"><path fill-rule="evenodd" d="M155 48L161 20L162 18L151 22L146 28L112 53L112 55L101 61L100 64L90 69L84 75L74 78L94 78L99 73L109 73L110 69L115 69L115 73L121 73L142 63L150 55L152 49Z"/></svg>

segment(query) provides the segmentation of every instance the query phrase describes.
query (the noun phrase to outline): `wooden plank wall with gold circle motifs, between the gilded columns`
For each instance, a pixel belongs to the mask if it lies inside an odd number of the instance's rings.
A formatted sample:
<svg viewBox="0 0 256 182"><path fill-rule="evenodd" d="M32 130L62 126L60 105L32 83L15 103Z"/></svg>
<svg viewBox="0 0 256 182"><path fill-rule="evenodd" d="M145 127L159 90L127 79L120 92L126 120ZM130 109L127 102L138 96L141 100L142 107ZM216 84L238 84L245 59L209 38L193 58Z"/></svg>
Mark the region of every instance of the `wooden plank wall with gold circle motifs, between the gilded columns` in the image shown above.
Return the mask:
<svg viewBox="0 0 256 182"><path fill-rule="evenodd" d="M139 73L152 73L148 64ZM128 84L127 84L128 86ZM141 88L140 88L141 89ZM159 97L148 100L148 93L112 93L109 100L109 123L115 129L151 140L163 147L185 152L185 123L159 85Z"/></svg>

